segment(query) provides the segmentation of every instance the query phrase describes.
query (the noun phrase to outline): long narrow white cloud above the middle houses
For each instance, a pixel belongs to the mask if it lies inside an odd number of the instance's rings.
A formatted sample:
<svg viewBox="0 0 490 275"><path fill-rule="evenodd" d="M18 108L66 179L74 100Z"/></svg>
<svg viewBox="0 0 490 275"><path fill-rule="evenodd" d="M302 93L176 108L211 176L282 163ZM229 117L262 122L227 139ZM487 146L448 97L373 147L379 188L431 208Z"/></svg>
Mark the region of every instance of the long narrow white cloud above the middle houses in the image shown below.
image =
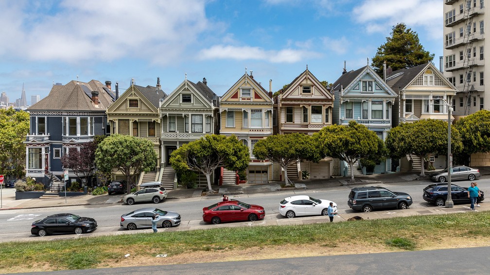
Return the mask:
<svg viewBox="0 0 490 275"><path fill-rule="evenodd" d="M252 46L224 46L215 45L203 49L199 58L207 59L234 59L234 60L265 60L272 63L295 63L307 58L318 57L319 53L301 49L265 50Z"/></svg>

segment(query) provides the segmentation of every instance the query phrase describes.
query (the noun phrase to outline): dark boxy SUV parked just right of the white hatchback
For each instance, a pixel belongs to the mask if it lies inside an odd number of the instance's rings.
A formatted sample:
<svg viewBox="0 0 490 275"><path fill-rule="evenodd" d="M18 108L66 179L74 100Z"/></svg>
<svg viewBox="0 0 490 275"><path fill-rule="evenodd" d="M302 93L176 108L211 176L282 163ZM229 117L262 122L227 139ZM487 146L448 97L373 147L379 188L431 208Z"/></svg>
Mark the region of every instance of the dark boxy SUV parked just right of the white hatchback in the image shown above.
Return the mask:
<svg viewBox="0 0 490 275"><path fill-rule="evenodd" d="M347 201L350 208L363 212L387 208L406 209L412 203L412 197L409 194L392 192L380 186L352 188Z"/></svg>

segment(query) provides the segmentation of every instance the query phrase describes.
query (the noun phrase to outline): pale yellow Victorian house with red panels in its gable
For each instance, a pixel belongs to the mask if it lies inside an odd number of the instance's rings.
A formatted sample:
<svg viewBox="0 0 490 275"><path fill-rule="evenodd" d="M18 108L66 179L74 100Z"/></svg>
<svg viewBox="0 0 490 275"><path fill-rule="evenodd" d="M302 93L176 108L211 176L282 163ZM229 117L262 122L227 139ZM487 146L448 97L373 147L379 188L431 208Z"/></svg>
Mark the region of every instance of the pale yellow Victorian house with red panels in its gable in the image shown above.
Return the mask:
<svg viewBox="0 0 490 275"><path fill-rule="evenodd" d="M220 134L235 135L249 148L248 183L269 183L273 180L272 162L253 156L254 144L272 135L272 92L267 92L252 72L245 74L220 98ZM234 174L234 172L233 172ZM221 183L235 183L223 169Z"/></svg>

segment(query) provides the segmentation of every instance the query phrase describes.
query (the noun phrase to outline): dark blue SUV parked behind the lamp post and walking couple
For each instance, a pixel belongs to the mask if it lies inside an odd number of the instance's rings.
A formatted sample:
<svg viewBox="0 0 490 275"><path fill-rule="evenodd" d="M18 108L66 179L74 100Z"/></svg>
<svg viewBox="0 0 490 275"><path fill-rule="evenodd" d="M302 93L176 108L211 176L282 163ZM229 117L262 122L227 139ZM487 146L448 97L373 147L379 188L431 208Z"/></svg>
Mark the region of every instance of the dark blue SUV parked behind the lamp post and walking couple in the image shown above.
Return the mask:
<svg viewBox="0 0 490 275"><path fill-rule="evenodd" d="M483 201L484 192L480 190L480 201ZM422 198L436 206L444 206L447 200L447 183L434 183L424 188ZM454 203L471 203L468 198L468 189L451 184L451 199Z"/></svg>

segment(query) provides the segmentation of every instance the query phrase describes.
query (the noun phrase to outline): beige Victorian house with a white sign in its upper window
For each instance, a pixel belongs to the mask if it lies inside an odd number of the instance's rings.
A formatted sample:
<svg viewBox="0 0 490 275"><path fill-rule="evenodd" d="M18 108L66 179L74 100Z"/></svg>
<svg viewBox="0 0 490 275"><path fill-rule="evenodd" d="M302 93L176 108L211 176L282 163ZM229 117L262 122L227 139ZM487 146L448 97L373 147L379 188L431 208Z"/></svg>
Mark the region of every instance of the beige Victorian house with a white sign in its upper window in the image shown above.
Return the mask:
<svg viewBox="0 0 490 275"><path fill-rule="evenodd" d="M279 134L312 135L331 125L333 100L332 93L307 68L277 98ZM331 158L319 163L305 161L288 167L288 178L301 179L301 171L307 170L310 179L328 179L338 173L335 172L339 169L338 163L335 167Z"/></svg>

